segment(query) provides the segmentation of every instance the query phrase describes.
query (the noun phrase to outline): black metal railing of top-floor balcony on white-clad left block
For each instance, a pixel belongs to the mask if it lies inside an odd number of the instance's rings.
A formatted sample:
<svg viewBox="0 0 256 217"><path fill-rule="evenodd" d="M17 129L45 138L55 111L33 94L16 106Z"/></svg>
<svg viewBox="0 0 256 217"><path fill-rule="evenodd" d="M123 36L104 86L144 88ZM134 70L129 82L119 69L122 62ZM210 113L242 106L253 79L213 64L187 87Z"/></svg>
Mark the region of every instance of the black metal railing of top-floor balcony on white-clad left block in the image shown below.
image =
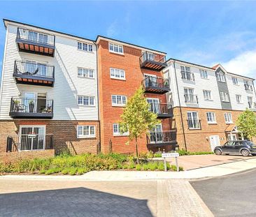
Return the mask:
<svg viewBox="0 0 256 217"><path fill-rule="evenodd" d="M55 46L55 36L34 30L17 28L17 38L34 43Z"/></svg>

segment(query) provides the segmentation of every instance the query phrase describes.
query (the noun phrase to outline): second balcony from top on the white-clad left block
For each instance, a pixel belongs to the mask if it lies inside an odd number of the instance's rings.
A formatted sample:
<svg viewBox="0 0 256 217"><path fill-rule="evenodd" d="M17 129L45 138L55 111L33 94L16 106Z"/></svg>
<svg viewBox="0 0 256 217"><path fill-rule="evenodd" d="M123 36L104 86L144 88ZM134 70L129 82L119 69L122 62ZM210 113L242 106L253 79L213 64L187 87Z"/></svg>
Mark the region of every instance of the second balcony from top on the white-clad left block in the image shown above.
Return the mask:
<svg viewBox="0 0 256 217"><path fill-rule="evenodd" d="M15 61L13 77L17 84L53 87L55 82L55 67L30 61Z"/></svg>

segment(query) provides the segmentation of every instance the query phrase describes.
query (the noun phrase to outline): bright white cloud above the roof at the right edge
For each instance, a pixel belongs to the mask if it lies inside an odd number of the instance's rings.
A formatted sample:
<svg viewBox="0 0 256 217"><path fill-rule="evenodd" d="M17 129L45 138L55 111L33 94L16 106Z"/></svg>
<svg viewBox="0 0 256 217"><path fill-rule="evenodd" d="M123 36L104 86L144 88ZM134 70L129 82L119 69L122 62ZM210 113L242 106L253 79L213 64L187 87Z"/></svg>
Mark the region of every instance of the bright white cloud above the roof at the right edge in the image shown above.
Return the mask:
<svg viewBox="0 0 256 217"><path fill-rule="evenodd" d="M256 50L243 52L221 64L230 73L256 78Z"/></svg>

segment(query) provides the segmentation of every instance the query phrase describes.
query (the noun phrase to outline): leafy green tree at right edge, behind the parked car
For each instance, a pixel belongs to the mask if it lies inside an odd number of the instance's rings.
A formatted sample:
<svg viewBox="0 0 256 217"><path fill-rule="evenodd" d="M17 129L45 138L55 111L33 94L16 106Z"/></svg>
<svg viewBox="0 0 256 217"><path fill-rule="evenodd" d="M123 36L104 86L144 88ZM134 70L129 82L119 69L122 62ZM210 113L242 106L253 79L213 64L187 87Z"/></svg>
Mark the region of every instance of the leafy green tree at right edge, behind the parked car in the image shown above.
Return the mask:
<svg viewBox="0 0 256 217"><path fill-rule="evenodd" d="M256 137L256 114L247 109L239 115L236 126L243 135L252 140Z"/></svg>

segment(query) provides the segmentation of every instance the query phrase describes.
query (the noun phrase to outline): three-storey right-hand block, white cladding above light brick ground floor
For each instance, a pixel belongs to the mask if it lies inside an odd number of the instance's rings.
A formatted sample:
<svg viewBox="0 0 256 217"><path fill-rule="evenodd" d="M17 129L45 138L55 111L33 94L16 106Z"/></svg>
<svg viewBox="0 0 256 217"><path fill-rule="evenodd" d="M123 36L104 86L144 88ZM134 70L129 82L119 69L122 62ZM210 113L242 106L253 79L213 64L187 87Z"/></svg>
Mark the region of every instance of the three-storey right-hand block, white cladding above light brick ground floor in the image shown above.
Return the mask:
<svg viewBox="0 0 256 217"><path fill-rule="evenodd" d="M236 119L247 108L256 111L253 78L169 59L164 78L173 91L167 103L173 106L173 125L180 149L211 151L227 140L243 139Z"/></svg>

